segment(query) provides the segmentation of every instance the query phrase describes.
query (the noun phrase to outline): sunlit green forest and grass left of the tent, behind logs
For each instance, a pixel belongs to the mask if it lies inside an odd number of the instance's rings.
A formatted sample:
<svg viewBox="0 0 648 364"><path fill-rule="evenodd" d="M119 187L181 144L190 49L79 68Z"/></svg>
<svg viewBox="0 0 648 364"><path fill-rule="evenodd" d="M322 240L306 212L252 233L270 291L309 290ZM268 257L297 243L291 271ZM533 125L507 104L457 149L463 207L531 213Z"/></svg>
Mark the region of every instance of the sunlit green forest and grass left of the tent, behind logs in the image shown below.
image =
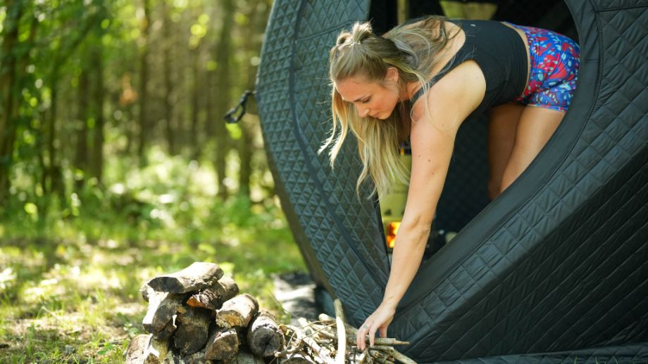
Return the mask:
<svg viewBox="0 0 648 364"><path fill-rule="evenodd" d="M0 358L118 363L145 280L305 271L254 101L270 0L0 3ZM281 252L281 254L278 254Z"/></svg>

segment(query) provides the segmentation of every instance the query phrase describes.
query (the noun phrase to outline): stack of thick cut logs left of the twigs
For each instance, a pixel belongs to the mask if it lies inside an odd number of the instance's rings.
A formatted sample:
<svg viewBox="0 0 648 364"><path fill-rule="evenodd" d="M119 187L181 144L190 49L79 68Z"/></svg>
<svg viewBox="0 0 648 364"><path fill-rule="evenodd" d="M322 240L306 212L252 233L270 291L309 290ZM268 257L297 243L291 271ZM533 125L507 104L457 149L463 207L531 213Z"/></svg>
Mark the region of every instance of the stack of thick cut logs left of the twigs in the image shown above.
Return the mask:
<svg viewBox="0 0 648 364"><path fill-rule="evenodd" d="M249 294L217 264L196 262L146 282L140 290L149 308L125 363L263 363L285 350L273 316L259 311Z"/></svg>

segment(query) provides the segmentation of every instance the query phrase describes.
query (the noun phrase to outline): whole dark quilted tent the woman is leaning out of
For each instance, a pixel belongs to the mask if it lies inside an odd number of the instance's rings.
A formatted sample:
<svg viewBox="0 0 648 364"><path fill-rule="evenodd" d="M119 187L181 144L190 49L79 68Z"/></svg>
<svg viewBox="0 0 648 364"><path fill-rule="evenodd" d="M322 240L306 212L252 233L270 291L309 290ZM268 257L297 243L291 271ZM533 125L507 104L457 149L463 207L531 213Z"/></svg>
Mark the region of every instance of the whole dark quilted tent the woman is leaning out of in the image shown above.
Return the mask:
<svg viewBox="0 0 648 364"><path fill-rule="evenodd" d="M390 27L390 4L275 0L258 72L263 136L294 238L354 325L380 303L390 263L378 203L354 191L354 141L335 170L317 155L330 129L328 50L354 21ZM462 200L468 212L440 212L459 235L424 262L390 325L420 363L648 361L648 1L566 5L581 46L571 109L497 200L485 201L483 178L444 190L454 200L483 193ZM461 128L480 139L483 127ZM456 157L447 186L484 175L475 155Z"/></svg>

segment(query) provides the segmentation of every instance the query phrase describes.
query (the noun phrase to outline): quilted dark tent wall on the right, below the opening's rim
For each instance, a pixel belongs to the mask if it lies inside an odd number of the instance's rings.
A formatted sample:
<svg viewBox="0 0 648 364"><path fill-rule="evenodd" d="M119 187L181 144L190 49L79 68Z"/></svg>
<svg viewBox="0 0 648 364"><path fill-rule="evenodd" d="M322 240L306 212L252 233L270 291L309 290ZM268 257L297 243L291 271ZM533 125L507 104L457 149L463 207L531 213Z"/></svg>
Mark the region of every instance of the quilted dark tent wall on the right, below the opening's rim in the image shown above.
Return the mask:
<svg viewBox="0 0 648 364"><path fill-rule="evenodd" d="M648 338L648 11L599 11L597 20L605 52L596 110L546 188L402 313L428 314L401 331L418 339L409 348L418 358Z"/></svg>

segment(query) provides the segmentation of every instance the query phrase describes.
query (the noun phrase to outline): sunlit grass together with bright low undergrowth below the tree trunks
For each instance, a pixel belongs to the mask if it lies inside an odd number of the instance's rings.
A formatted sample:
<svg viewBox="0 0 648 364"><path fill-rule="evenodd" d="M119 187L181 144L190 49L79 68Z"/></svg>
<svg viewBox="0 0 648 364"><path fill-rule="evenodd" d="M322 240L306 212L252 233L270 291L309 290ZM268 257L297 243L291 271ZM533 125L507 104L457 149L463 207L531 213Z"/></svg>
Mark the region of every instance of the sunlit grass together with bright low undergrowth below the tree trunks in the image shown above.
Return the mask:
<svg viewBox="0 0 648 364"><path fill-rule="evenodd" d="M0 220L2 363L120 363L143 333L142 283L194 261L218 263L283 318L271 275L306 268L277 201L222 202L210 164L156 153L142 171L108 167L113 188L89 187L78 214L11 202Z"/></svg>

